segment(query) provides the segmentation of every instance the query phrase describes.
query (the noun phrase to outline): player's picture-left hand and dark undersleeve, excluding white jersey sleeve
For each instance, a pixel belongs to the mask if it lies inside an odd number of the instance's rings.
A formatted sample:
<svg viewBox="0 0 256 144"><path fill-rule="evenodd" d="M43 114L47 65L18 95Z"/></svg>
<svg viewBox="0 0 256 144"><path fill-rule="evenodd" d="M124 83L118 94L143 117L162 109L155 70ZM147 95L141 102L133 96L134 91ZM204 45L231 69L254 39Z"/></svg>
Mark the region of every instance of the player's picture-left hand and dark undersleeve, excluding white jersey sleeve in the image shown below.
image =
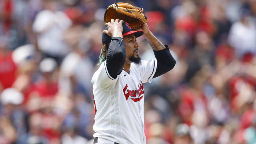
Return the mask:
<svg viewBox="0 0 256 144"><path fill-rule="evenodd" d="M108 30L104 30L105 34L112 36L112 40L108 47L106 57L106 68L111 78L117 78L124 68L124 62L126 59L126 50L123 40L123 20L114 20L108 22Z"/></svg>

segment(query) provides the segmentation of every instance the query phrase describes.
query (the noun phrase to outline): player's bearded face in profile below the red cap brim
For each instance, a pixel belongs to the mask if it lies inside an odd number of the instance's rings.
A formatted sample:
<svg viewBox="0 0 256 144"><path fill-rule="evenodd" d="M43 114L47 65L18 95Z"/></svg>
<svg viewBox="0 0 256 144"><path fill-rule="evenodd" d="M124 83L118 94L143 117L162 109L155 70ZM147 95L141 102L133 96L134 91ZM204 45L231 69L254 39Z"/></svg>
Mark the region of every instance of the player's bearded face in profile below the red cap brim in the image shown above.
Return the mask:
<svg viewBox="0 0 256 144"><path fill-rule="evenodd" d="M124 44L126 49L126 63L135 62L140 63L140 56L138 52L139 44L134 34L124 36Z"/></svg>

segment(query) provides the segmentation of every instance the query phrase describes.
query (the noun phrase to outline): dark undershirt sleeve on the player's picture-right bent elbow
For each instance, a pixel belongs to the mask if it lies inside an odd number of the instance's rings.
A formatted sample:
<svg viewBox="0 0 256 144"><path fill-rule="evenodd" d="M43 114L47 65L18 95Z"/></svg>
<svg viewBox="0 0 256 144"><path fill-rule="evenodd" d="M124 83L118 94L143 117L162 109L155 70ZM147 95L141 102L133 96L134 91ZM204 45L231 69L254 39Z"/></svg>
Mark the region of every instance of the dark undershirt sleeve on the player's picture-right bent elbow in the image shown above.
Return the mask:
<svg viewBox="0 0 256 144"><path fill-rule="evenodd" d="M157 60L156 73L153 78L161 76L162 74L172 70L176 64L176 60L172 57L170 50L167 45L163 50L153 50Z"/></svg>

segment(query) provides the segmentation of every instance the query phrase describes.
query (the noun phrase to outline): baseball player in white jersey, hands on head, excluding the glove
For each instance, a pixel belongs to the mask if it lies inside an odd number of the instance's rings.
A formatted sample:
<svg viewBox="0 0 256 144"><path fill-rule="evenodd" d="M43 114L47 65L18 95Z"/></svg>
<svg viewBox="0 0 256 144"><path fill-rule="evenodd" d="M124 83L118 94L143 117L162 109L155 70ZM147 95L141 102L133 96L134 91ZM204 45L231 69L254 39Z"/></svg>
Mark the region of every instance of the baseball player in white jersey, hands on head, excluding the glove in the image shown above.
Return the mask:
<svg viewBox="0 0 256 144"><path fill-rule="evenodd" d="M142 35L155 59L140 60L136 38ZM143 83L168 72L176 61L147 24L133 31L127 22L112 19L102 44L101 64L92 77L94 144L146 144Z"/></svg>

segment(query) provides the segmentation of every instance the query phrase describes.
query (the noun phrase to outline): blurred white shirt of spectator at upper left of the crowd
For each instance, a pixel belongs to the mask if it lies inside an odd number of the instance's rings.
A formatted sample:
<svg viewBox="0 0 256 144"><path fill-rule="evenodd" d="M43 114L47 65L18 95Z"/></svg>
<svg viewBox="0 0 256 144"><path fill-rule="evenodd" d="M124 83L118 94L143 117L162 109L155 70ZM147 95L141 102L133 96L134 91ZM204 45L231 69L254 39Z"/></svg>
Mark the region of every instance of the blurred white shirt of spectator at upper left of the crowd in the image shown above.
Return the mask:
<svg viewBox="0 0 256 144"><path fill-rule="evenodd" d="M63 39L64 30L72 26L72 21L64 12L43 10L39 12L33 24L38 32L38 46L42 52L52 56L65 56L70 51Z"/></svg>

